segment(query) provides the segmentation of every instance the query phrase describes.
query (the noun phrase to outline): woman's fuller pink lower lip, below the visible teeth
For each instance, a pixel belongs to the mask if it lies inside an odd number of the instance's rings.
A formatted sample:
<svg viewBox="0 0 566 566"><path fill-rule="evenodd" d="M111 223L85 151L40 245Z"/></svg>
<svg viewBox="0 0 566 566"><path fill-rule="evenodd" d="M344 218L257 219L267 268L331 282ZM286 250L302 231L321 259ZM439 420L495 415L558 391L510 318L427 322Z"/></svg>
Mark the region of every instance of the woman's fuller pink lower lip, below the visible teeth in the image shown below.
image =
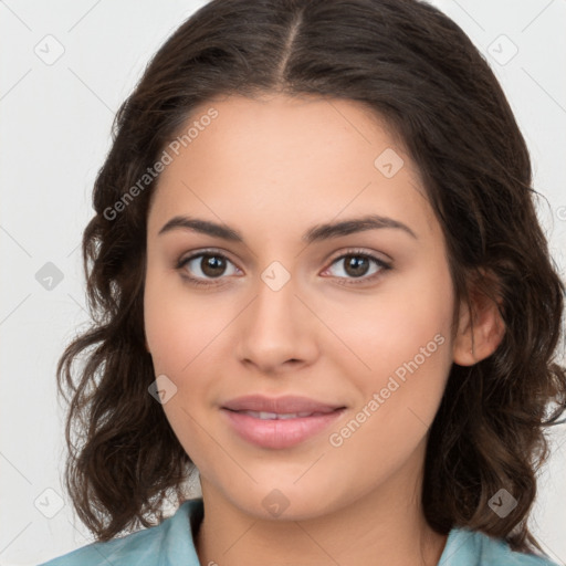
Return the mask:
<svg viewBox="0 0 566 566"><path fill-rule="evenodd" d="M232 428L244 440L262 448L290 448L335 422L345 409L295 419L258 419L251 415L222 409Z"/></svg>

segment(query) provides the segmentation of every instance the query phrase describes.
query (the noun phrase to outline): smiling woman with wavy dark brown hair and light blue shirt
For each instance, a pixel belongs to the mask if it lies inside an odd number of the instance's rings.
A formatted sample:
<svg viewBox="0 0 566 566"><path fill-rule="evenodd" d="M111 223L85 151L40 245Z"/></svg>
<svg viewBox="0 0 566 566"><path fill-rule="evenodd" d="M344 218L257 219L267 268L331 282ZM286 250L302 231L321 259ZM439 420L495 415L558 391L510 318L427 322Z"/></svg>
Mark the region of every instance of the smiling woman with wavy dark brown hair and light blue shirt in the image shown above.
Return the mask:
<svg viewBox="0 0 566 566"><path fill-rule="evenodd" d="M46 564L552 565L526 520L566 402L564 284L531 184L439 10L201 8L96 179L95 325L57 374L98 542Z"/></svg>

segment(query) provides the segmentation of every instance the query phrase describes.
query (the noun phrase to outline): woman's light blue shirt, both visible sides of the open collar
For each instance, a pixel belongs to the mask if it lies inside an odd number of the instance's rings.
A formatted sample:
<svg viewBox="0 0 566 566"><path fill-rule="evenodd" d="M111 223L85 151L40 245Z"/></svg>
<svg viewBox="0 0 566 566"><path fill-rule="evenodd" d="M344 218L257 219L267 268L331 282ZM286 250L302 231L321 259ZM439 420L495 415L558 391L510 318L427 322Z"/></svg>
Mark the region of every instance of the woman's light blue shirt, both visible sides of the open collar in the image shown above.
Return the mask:
<svg viewBox="0 0 566 566"><path fill-rule="evenodd" d="M104 543L92 543L39 566L200 566L192 533L203 516L202 497L184 502L157 526ZM206 566L206 565L202 565ZM452 528L438 566L558 566L511 551L503 539Z"/></svg>

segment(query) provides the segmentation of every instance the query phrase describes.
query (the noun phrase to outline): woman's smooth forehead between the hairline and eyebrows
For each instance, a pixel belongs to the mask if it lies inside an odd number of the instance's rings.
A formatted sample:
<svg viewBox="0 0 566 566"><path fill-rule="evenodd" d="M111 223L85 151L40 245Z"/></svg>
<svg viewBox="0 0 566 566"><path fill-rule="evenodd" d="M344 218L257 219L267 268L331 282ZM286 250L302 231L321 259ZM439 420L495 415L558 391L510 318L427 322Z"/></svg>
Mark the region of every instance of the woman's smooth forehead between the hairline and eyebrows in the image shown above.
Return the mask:
<svg viewBox="0 0 566 566"><path fill-rule="evenodd" d="M420 222L429 228L433 221L398 136L356 101L210 99L193 108L172 144L153 199L154 233L157 222L195 210L217 221L261 219L271 228L327 221L340 211L412 216L413 222L424 214Z"/></svg>

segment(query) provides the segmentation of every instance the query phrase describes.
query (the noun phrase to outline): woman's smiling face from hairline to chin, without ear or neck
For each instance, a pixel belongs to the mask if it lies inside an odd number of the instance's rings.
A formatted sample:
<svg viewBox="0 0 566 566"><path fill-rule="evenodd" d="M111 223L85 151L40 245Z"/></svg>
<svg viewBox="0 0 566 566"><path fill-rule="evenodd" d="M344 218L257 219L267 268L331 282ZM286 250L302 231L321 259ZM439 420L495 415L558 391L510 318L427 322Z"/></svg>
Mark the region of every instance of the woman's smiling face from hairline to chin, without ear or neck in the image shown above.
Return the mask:
<svg viewBox="0 0 566 566"><path fill-rule="evenodd" d="M407 490L453 359L447 251L416 166L353 101L232 96L193 120L150 207L144 307L163 408L205 497L306 518ZM241 239L160 233L174 217ZM316 231L367 217L381 220ZM224 408L249 395L327 408Z"/></svg>

